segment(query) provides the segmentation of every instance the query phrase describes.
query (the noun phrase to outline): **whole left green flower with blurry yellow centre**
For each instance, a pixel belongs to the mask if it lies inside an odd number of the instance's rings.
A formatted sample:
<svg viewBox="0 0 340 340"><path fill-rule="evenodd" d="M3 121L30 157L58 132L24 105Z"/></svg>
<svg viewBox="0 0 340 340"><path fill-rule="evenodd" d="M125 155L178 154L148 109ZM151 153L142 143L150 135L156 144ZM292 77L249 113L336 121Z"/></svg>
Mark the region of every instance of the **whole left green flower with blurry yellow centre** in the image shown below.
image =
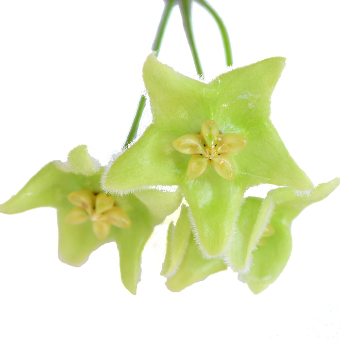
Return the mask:
<svg viewBox="0 0 340 340"><path fill-rule="evenodd" d="M121 280L136 294L143 248L154 226L180 204L177 192L156 189L112 197L101 190L104 168L87 153L74 148L68 161L53 161L39 170L0 212L17 214L37 207L57 210L61 261L81 266L102 244L115 241Z"/></svg>

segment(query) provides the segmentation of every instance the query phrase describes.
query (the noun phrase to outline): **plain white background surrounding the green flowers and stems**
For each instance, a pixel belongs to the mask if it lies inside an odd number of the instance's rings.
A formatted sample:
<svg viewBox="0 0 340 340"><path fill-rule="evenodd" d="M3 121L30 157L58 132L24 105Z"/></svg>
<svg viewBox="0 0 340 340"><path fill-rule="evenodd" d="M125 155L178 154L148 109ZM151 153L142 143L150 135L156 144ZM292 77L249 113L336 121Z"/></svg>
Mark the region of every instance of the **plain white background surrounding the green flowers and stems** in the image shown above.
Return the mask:
<svg viewBox="0 0 340 340"><path fill-rule="evenodd" d="M287 57L272 121L315 184L340 175L336 1L211 0L235 67ZM44 164L87 144L106 164L125 140L143 89L163 1L0 1L0 202ZM218 30L193 13L206 79L225 71ZM195 69L176 8L160 61ZM120 282L116 245L81 268L57 257L55 211L0 216L1 339L340 339L340 189L293 223L289 263L253 295L232 271L180 293L159 275L166 227L142 263L137 295Z"/></svg>

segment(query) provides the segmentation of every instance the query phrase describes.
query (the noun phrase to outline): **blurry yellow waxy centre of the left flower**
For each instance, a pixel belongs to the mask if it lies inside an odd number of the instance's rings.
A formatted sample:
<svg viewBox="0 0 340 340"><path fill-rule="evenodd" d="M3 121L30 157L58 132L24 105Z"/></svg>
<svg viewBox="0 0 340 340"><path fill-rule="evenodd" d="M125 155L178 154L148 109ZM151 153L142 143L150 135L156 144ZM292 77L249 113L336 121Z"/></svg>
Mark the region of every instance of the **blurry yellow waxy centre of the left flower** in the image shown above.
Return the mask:
<svg viewBox="0 0 340 340"><path fill-rule="evenodd" d="M125 211L114 205L115 198L103 192L79 190L69 193L68 200L75 207L68 213L66 222L81 224L88 220L92 221L93 232L99 239L107 238L111 224L119 228L127 228L131 225Z"/></svg>

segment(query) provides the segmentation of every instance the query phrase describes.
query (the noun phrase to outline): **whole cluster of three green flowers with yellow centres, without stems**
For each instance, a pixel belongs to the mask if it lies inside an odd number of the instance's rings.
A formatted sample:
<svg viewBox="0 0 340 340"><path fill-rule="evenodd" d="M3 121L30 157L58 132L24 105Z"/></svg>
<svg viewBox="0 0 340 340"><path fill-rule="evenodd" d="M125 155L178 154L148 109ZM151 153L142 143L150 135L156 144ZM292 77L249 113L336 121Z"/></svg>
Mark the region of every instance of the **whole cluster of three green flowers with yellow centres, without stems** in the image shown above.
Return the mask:
<svg viewBox="0 0 340 340"><path fill-rule="evenodd" d="M336 178L314 187L272 125L270 98L284 65L284 58L270 58L205 84L151 54L143 78L153 123L139 140L106 170L86 146L76 147L66 163L42 168L0 212L56 208L59 257L73 266L115 241L122 282L135 294L147 240L184 198L168 230L167 287L179 291L230 267L261 292L289 259L294 218L340 184ZM265 199L245 198L261 183L283 187Z"/></svg>

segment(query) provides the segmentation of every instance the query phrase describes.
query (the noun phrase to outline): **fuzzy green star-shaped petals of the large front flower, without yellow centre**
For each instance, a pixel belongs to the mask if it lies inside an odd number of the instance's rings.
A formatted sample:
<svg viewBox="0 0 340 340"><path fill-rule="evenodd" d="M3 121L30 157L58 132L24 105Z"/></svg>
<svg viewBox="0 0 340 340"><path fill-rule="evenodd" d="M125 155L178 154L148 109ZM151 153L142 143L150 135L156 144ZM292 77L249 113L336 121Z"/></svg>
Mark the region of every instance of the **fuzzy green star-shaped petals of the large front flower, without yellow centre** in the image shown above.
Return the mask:
<svg viewBox="0 0 340 340"><path fill-rule="evenodd" d="M121 194L141 187L178 185L189 204L204 255L221 255L234 232L247 188L261 183L301 191L313 188L269 118L270 97L284 65L284 58L270 58L204 84L150 55L143 77L153 123L114 162L103 181L105 189ZM173 147L182 136L199 135L207 120L216 124L219 136L237 134L248 142L240 152L227 155L226 163L233 164L231 180L224 178L228 177L228 171L223 170L227 167L221 167L225 174L221 176L216 167L206 166L206 160L202 174L188 177L192 156ZM196 158L197 162L201 164Z"/></svg>

